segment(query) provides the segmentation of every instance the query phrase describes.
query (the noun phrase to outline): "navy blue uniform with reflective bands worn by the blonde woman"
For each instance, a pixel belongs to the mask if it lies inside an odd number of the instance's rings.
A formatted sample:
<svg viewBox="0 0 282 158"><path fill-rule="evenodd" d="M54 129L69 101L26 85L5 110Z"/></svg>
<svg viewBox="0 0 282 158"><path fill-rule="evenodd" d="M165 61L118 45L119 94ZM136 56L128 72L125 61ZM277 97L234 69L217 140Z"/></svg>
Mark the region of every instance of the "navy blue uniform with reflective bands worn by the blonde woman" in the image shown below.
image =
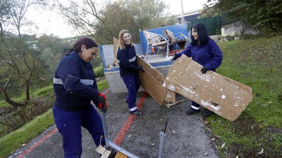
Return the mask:
<svg viewBox="0 0 282 158"><path fill-rule="evenodd" d="M128 89L128 109L130 113L137 110L136 95L140 88L140 80L138 75L139 65L136 60L135 48L126 45L125 49L118 49L117 59L120 66L120 75Z"/></svg>

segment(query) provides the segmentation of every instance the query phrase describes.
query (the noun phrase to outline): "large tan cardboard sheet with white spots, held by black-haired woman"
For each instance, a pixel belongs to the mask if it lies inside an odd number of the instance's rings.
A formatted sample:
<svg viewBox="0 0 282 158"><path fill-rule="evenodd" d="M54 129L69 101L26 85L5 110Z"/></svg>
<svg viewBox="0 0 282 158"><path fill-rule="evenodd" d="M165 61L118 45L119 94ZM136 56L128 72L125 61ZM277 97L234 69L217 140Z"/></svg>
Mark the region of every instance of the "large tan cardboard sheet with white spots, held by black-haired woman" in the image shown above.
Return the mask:
<svg viewBox="0 0 282 158"><path fill-rule="evenodd" d="M173 63L163 86L234 121L252 101L252 89L213 71L203 74L201 68L182 55Z"/></svg>

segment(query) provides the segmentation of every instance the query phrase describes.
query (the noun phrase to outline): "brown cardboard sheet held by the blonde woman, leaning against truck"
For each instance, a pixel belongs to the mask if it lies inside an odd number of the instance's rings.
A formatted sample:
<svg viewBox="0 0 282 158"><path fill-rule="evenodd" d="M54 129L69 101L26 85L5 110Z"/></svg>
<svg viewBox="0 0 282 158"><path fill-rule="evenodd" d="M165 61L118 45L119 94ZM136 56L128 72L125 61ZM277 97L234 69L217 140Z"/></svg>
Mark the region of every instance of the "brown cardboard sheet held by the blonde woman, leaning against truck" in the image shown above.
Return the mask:
<svg viewBox="0 0 282 158"><path fill-rule="evenodd" d="M136 56L137 63L142 66L145 72L139 73L140 85L146 90L159 105L166 102L175 102L175 92L162 87L165 76L156 70L153 66Z"/></svg>

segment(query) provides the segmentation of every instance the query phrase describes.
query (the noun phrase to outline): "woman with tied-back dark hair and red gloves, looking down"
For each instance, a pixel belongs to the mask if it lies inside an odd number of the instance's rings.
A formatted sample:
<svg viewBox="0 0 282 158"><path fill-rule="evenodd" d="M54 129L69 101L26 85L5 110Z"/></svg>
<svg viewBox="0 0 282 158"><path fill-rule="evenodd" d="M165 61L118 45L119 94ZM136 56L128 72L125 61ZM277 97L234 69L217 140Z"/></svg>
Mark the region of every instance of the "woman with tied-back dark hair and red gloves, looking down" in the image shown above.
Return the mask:
<svg viewBox="0 0 282 158"><path fill-rule="evenodd" d="M65 158L80 158L82 153L81 126L92 135L96 146L104 135L103 124L91 101L103 112L106 98L98 91L90 61L98 45L90 38L77 40L62 58L53 78L56 100L53 106L55 125L63 137ZM105 145L104 138L101 145Z"/></svg>

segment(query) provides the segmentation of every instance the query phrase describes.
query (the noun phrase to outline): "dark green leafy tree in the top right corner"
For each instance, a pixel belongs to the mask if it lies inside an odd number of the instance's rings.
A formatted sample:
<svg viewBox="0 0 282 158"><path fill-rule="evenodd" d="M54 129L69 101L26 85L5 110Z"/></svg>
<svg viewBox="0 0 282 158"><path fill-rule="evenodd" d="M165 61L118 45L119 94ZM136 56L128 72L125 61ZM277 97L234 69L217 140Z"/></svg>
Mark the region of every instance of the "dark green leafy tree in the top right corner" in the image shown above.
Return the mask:
<svg viewBox="0 0 282 158"><path fill-rule="evenodd" d="M282 0L207 0L206 12L238 15L261 32L282 31Z"/></svg>

